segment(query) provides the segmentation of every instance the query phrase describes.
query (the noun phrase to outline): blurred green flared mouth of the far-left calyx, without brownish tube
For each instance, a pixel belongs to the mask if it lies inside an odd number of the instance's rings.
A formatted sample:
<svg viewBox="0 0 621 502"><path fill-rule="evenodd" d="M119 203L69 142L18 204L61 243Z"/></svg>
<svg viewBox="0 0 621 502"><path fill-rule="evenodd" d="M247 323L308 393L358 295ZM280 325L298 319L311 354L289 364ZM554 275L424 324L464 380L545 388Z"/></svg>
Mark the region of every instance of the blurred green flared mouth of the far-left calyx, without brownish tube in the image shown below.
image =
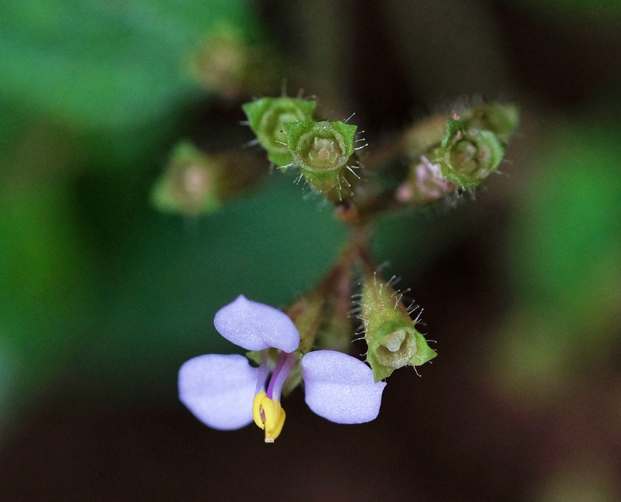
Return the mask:
<svg viewBox="0 0 621 502"><path fill-rule="evenodd" d="M171 151L164 173L153 185L153 207L162 212L207 214L222 207L219 196L220 166L189 142Z"/></svg>

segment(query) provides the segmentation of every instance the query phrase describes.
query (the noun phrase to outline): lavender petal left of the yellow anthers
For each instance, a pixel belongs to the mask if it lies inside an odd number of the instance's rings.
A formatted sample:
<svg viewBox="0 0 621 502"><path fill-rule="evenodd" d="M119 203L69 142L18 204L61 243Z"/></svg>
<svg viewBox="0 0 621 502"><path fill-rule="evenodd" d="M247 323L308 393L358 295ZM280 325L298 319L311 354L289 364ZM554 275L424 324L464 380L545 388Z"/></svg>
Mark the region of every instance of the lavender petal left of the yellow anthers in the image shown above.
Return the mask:
<svg viewBox="0 0 621 502"><path fill-rule="evenodd" d="M199 355L179 369L179 399L209 427L240 429L253 421L258 375L242 355Z"/></svg>

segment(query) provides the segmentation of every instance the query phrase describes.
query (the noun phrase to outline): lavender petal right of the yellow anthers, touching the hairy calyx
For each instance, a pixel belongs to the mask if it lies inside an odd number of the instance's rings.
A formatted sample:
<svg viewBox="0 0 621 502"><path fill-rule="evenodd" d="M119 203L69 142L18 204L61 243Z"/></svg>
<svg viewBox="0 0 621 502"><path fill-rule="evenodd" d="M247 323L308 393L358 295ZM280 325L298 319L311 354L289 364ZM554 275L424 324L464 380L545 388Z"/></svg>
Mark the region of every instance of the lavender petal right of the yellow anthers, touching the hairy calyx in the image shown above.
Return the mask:
<svg viewBox="0 0 621 502"><path fill-rule="evenodd" d="M362 361L333 350L316 350L302 358L309 408L337 424L361 424L379 413L386 383L375 382Z"/></svg>

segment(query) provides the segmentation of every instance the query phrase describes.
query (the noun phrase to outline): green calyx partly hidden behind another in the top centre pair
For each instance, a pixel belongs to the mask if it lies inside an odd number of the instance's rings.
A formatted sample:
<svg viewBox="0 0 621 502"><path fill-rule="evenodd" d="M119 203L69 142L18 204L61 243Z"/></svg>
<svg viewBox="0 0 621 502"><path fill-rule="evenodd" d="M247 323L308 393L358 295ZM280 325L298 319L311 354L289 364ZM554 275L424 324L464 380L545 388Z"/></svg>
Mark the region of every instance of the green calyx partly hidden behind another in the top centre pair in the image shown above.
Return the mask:
<svg viewBox="0 0 621 502"><path fill-rule="evenodd" d="M285 124L311 119L317 103L298 98L261 98L244 104L248 125L259 144L268 152L268 159L278 167L293 161L288 148Z"/></svg>

